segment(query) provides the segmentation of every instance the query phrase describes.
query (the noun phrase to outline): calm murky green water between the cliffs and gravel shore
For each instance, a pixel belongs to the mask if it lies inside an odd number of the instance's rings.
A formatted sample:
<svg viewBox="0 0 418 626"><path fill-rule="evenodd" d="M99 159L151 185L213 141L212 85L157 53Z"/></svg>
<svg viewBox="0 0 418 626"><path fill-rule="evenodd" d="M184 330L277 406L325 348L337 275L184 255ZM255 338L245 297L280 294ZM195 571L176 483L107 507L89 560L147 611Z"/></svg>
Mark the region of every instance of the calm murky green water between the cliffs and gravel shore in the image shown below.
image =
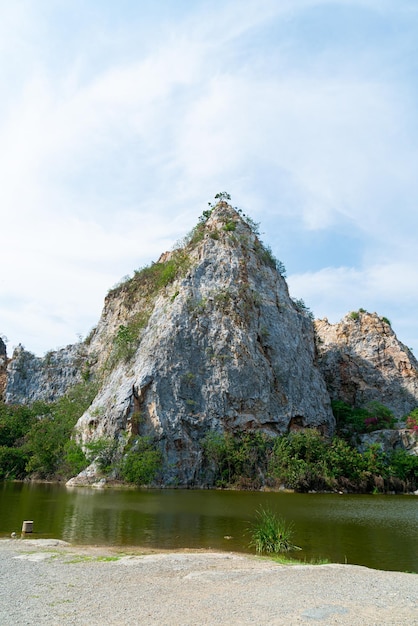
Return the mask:
<svg viewBox="0 0 418 626"><path fill-rule="evenodd" d="M294 556L301 560L418 572L416 496L119 491L0 482L0 537L19 533L29 519L34 537L72 543L251 552L246 530L260 506L293 523L294 541L303 548Z"/></svg>

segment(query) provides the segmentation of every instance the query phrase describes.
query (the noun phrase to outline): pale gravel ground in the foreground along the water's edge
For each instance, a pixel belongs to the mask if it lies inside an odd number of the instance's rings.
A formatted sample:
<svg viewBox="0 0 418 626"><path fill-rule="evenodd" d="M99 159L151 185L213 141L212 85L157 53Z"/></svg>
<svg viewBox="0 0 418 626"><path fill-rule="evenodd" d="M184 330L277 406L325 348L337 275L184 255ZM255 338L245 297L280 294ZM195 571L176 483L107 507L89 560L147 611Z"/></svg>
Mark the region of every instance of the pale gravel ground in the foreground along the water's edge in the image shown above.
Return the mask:
<svg viewBox="0 0 418 626"><path fill-rule="evenodd" d="M0 625L418 625L418 576L233 553L0 541Z"/></svg>

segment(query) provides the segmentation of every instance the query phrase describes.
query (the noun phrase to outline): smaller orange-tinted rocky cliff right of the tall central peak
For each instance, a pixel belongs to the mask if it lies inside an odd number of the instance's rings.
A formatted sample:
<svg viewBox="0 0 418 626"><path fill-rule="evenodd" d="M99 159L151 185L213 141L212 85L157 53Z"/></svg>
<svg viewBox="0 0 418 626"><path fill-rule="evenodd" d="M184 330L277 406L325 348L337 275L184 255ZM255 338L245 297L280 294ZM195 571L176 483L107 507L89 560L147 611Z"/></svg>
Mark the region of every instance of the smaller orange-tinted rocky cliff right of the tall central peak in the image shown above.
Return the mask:
<svg viewBox="0 0 418 626"><path fill-rule="evenodd" d="M338 324L315 321L318 364L333 400L377 400L398 419L418 406L418 362L385 318L355 312Z"/></svg>

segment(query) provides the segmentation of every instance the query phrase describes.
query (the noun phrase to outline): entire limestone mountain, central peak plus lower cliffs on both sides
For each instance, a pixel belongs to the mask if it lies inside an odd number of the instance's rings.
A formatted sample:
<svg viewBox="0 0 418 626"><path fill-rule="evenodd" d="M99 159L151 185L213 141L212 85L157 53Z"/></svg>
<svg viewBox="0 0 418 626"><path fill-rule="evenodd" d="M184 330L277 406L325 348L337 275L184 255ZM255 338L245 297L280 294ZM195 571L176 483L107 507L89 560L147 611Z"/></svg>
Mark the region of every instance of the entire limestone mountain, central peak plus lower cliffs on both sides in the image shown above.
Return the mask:
<svg viewBox="0 0 418 626"><path fill-rule="evenodd" d="M314 326L283 274L252 220L221 200L177 249L110 290L85 341L43 358L19 346L5 401L49 402L93 381L79 441L122 454L149 437L166 485L202 483L210 433L332 435L331 399L378 400L397 418L418 406L418 363L383 318ZM93 463L72 482L95 480Z"/></svg>

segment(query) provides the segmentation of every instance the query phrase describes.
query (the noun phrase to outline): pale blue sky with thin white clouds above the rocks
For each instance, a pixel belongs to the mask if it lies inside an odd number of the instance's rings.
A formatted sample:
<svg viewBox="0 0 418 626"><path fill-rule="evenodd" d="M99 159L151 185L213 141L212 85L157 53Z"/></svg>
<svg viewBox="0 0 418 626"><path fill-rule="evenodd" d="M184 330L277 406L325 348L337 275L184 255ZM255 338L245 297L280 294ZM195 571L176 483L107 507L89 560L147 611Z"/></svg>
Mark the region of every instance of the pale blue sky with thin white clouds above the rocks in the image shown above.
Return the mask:
<svg viewBox="0 0 418 626"><path fill-rule="evenodd" d="M0 335L42 355L219 191L418 353L416 0L0 0Z"/></svg>

